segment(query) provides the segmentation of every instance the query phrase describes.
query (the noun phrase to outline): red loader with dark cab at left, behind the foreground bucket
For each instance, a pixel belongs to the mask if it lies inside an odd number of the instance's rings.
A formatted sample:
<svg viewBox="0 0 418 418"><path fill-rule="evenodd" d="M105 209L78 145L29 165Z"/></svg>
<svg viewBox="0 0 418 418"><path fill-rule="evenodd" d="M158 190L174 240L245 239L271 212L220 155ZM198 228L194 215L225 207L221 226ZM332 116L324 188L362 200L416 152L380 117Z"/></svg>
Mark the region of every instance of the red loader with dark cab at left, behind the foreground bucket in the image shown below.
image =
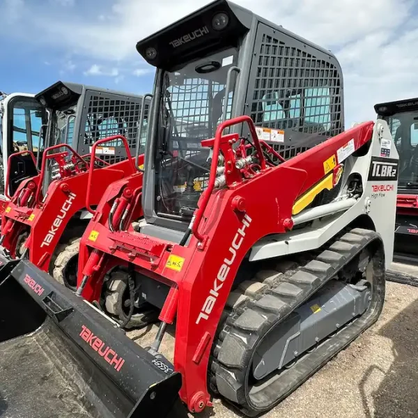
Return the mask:
<svg viewBox="0 0 418 418"><path fill-rule="evenodd" d="M127 97L62 82L36 98L51 114L47 144L54 145L38 153L42 163L29 150L8 159L6 195L11 200L3 212L0 258L7 270L8 260L25 255L75 290L79 240L93 212L91 206L97 206L109 184L137 172L137 163L131 157L136 148L137 160L143 163L140 141L137 143L138 124L141 102L148 107L149 101L142 96ZM146 116L145 111L142 116ZM88 153L93 148L99 156L91 160ZM24 179L17 167L22 168ZM96 170L90 172L89 167ZM36 175L27 175L30 173ZM10 197L8 190L17 183ZM86 206L87 192L90 199Z"/></svg>

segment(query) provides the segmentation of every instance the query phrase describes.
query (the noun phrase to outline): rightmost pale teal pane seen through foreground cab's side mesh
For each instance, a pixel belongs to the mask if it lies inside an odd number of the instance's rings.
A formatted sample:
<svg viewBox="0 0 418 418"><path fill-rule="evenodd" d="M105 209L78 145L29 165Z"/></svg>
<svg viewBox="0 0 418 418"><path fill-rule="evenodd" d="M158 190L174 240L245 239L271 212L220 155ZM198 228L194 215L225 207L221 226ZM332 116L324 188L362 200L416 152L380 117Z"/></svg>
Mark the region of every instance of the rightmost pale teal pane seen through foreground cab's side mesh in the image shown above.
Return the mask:
<svg viewBox="0 0 418 418"><path fill-rule="evenodd" d="M324 130L331 128L330 88L305 88L305 122L323 125Z"/></svg>

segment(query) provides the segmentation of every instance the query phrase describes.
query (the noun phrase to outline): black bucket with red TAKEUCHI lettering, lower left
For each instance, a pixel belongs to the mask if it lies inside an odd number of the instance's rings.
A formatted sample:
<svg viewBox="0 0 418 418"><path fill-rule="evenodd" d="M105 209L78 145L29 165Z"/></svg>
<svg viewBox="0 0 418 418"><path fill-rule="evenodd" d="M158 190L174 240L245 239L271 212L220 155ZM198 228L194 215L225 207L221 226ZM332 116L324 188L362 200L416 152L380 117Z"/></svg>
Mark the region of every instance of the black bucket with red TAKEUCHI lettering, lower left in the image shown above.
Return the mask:
<svg viewBox="0 0 418 418"><path fill-rule="evenodd" d="M27 260L0 286L0 417L187 417L181 375Z"/></svg>

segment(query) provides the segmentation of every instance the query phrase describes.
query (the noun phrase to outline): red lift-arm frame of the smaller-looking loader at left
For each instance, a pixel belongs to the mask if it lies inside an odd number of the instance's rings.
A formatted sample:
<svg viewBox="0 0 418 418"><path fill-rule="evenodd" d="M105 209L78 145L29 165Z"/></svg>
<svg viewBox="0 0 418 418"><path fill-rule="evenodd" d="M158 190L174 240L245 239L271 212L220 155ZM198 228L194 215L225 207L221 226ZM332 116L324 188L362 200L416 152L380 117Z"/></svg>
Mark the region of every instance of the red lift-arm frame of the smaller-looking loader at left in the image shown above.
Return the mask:
<svg viewBox="0 0 418 418"><path fill-rule="evenodd" d="M121 135L101 139L93 145L93 149L104 142L117 140L123 142L127 155L130 155L127 140ZM68 151L49 154L57 148L67 148ZM71 153L75 162L72 170L63 160L68 153ZM18 154L21 153L10 155L9 166L11 158ZM91 164L85 160L89 156ZM46 172L46 161L49 159L54 159L58 163L61 179L52 181L47 189L47 196L44 197L42 179ZM143 160L144 155L140 155L138 164L142 164ZM93 163L95 161L100 161L105 167L95 169ZM42 166L38 176L20 184L3 212L1 231L3 247L15 258L20 233L29 227L29 238L25 243L25 247L29 249L29 260L40 269L48 271L54 249L59 244L70 219L85 208L86 196L92 205L97 205L111 183L136 172L134 158L128 157L122 162L109 165L95 155L78 155L68 144L47 148L42 155Z"/></svg>

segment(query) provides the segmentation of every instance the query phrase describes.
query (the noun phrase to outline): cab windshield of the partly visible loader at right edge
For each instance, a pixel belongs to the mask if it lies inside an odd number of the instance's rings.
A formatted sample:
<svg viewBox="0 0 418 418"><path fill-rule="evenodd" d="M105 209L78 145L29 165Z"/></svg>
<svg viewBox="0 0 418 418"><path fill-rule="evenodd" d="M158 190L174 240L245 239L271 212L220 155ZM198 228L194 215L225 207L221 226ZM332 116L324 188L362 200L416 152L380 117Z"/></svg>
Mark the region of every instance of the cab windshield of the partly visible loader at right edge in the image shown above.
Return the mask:
<svg viewBox="0 0 418 418"><path fill-rule="evenodd" d="M418 111L383 118L399 154L398 187L418 189Z"/></svg>

